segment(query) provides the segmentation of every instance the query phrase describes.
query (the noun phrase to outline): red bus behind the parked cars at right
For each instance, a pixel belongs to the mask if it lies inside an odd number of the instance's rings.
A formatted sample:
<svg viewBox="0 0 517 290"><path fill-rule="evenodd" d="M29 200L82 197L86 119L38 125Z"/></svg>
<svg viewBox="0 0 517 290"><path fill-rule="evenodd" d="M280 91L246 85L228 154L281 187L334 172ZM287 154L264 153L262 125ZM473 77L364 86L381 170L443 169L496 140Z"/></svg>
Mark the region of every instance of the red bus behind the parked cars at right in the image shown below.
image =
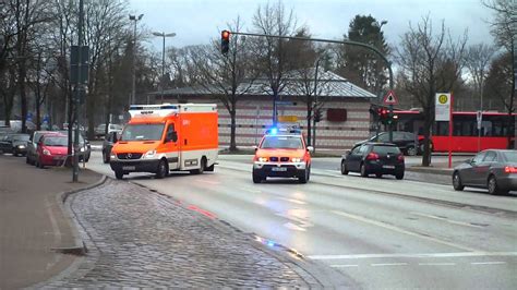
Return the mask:
<svg viewBox="0 0 517 290"><path fill-rule="evenodd" d="M395 110L398 116L396 130L413 132L423 137L423 114L416 110ZM516 128L517 113L513 114L512 123ZM453 152L476 153L484 149L505 149L508 146L507 113L483 112L481 136L478 137L477 112L453 112ZM434 152L448 152L448 122L436 121L432 128L431 140ZM512 140L515 147L515 133Z"/></svg>

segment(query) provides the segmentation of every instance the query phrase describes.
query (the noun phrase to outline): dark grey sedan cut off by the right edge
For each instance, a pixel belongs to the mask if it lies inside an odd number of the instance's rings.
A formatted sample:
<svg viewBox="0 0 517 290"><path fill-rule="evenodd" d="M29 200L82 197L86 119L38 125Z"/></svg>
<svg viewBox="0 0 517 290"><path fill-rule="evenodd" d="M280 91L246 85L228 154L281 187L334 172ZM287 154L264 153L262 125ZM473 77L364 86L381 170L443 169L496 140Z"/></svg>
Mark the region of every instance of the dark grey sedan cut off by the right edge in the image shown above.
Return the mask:
<svg viewBox="0 0 517 290"><path fill-rule="evenodd" d="M454 168L453 186L488 189L490 194L517 190L517 152L489 149Z"/></svg>

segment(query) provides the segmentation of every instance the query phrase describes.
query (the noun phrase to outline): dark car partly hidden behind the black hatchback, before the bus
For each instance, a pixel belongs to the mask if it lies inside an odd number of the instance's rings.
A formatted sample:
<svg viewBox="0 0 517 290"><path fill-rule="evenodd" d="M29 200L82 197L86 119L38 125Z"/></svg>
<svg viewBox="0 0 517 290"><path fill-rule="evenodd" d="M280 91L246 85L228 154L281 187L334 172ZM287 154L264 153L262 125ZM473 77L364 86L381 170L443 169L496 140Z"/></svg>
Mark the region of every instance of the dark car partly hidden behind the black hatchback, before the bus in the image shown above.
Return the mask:
<svg viewBox="0 0 517 290"><path fill-rule="evenodd" d="M354 146L364 144L366 142L389 142L389 133L382 132L378 136L372 136L369 140L361 141L356 143ZM423 152L423 138L419 138L417 134L410 132L395 131L393 132L393 143L398 146L398 148L406 155L414 156L417 154L422 154ZM433 148L433 143L431 142L431 150Z"/></svg>

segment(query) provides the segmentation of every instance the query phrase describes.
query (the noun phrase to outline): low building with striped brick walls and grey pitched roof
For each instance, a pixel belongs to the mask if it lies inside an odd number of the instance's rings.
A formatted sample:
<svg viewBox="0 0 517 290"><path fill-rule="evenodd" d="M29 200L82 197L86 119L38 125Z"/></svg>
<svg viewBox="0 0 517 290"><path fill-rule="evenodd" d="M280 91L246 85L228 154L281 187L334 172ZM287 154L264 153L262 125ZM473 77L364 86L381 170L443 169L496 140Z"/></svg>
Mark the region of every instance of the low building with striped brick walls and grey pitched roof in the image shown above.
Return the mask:
<svg viewBox="0 0 517 290"><path fill-rule="evenodd" d="M314 106L298 87L294 77L284 87L277 98L279 125L297 125L308 134L308 105ZM315 143L318 149L349 149L354 143L370 135L370 102L375 95L351 84L347 80L324 72L318 78L316 106L322 118L315 126ZM313 86L313 85L312 85ZM312 87L305 86L305 87ZM311 92L309 92L311 93ZM312 92L313 93L313 92ZM160 93L152 93L152 99L160 99ZM236 143L238 147L257 145L264 132L273 125L273 96L265 82L255 81L245 93L240 92L236 110ZM188 87L164 92L164 102L215 102L219 112L219 144L230 144L231 118L218 97L220 92L209 87ZM287 121L287 122L286 122ZM311 120L312 122L312 120ZM313 123L311 123L312 125ZM314 129L311 130L314 132ZM313 136L312 136L313 137Z"/></svg>

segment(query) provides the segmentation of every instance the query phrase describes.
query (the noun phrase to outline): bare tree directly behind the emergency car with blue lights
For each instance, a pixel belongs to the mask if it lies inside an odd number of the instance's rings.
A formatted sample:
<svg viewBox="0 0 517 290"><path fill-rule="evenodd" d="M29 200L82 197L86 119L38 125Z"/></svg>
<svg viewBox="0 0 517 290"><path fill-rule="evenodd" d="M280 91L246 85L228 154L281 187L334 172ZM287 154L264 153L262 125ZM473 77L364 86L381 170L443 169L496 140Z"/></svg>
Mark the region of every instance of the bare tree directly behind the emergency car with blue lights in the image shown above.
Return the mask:
<svg viewBox="0 0 517 290"><path fill-rule="evenodd" d="M292 10L286 11L279 1L276 5L268 3L258 7L253 15L253 26L256 33L265 35L292 36L297 29L297 21ZM279 93L287 84L285 73L290 71L288 55L285 49L286 40L274 37L253 39L253 51L256 53L257 71L265 72L268 82L267 93L273 96L274 116L276 122L276 101Z"/></svg>

